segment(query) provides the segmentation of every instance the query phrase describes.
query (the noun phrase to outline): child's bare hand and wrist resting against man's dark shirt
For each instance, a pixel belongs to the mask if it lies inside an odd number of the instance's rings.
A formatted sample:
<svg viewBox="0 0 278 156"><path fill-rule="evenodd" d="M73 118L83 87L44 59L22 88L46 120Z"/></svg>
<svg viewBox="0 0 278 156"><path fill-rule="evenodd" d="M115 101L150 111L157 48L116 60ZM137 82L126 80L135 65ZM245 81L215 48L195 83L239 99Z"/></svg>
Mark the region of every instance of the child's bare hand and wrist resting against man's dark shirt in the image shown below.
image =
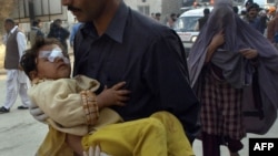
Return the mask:
<svg viewBox="0 0 278 156"><path fill-rule="evenodd" d="M111 106L111 105L119 105L123 106L125 102L129 100L128 95L130 91L121 90L126 85L126 82L120 82L115 84L110 89L106 89L97 96L97 103L100 108Z"/></svg>

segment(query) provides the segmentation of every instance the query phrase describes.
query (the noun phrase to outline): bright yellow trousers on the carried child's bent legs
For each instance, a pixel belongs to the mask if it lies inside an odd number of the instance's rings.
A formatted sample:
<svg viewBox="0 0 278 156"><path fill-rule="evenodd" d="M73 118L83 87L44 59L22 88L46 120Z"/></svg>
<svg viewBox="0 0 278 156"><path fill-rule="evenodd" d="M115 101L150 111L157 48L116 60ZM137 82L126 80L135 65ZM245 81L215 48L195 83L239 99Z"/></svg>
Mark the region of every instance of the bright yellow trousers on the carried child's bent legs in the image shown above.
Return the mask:
<svg viewBox="0 0 278 156"><path fill-rule="evenodd" d="M108 125L82 138L86 150L96 145L112 156L193 156L180 122L168 112Z"/></svg>

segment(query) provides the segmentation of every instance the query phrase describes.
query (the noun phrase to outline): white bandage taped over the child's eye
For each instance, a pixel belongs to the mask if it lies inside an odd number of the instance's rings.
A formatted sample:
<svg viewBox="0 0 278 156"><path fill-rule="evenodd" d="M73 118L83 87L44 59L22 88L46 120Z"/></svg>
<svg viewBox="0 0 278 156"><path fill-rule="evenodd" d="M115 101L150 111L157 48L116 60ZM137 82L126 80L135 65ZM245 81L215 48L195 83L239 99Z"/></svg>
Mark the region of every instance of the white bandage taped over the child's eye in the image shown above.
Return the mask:
<svg viewBox="0 0 278 156"><path fill-rule="evenodd" d="M62 50L60 48L54 48L52 51L41 51L39 58L47 58L49 62L54 62L57 58L60 58L64 63L70 63L69 59L62 54Z"/></svg>

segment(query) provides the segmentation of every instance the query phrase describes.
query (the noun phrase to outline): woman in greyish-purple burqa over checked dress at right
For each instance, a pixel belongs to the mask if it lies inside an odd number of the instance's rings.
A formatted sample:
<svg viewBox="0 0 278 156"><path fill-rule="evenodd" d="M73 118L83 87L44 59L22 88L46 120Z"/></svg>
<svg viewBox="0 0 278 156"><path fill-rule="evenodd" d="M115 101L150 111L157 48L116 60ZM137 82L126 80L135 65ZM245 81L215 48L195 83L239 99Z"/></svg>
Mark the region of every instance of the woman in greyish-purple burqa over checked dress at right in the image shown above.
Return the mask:
<svg viewBox="0 0 278 156"><path fill-rule="evenodd" d="M234 13L230 0L215 2L189 53L188 66L202 104L203 156L220 156L220 145L238 156L246 133L269 131L277 118L278 52ZM244 113L246 104L252 112ZM246 122L245 115L251 119Z"/></svg>

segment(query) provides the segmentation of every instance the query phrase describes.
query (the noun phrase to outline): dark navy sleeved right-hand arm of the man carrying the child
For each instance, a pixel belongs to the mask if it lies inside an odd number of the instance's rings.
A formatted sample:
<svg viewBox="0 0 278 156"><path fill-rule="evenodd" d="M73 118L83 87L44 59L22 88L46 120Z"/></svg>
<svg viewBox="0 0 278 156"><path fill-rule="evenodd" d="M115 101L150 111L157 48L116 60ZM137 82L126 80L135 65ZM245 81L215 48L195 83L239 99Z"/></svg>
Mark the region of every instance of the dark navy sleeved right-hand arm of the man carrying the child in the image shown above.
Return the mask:
<svg viewBox="0 0 278 156"><path fill-rule="evenodd" d="M146 62L146 77L150 90L158 97L160 108L176 115L189 141L192 143L199 132L200 103L189 84L186 52L179 37L168 32L155 41ZM156 71L156 74L153 74Z"/></svg>

